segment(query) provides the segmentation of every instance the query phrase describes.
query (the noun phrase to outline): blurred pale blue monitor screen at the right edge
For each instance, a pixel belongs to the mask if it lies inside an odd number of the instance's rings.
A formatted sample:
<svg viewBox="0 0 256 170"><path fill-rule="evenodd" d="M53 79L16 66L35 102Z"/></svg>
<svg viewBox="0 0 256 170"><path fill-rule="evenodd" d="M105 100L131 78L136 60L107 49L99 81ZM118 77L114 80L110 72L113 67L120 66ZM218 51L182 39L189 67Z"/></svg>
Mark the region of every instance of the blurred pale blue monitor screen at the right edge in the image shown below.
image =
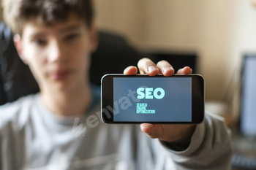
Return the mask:
<svg viewBox="0 0 256 170"><path fill-rule="evenodd" d="M240 130L256 136L256 54L244 55L242 71Z"/></svg>

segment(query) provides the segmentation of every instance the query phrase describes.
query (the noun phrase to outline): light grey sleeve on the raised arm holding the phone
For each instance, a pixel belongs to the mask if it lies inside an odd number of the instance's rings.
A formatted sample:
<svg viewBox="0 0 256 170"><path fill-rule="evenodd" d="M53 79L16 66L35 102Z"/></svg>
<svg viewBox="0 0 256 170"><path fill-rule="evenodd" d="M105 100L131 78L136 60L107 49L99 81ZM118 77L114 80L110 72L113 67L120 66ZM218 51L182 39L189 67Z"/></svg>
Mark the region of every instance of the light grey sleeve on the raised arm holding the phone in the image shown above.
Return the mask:
<svg viewBox="0 0 256 170"><path fill-rule="evenodd" d="M161 143L178 169L230 169L230 131L223 118L217 115L206 113L186 150L170 150L165 142Z"/></svg>

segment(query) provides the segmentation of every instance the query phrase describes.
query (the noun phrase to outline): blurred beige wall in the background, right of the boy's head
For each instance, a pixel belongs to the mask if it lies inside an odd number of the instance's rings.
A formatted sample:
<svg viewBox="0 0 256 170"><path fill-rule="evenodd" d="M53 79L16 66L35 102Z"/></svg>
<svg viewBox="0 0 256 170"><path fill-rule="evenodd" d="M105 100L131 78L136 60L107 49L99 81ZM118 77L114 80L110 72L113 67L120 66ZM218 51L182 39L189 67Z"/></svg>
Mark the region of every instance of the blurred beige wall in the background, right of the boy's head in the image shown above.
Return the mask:
<svg viewBox="0 0 256 170"><path fill-rule="evenodd" d="M230 127L240 117L244 55L256 54L253 3L94 0L99 30L124 36L140 53L196 56L196 73L206 81L206 109L225 117Z"/></svg>

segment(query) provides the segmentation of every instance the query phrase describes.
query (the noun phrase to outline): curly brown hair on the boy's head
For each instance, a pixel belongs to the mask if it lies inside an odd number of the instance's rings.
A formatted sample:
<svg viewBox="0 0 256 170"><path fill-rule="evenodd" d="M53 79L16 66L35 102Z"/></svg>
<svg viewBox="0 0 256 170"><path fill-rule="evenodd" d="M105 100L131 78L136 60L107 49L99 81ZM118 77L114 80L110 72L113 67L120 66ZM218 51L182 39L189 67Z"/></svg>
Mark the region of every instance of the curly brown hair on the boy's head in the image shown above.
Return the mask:
<svg viewBox="0 0 256 170"><path fill-rule="evenodd" d="M70 12L85 21L89 28L94 10L91 0L2 0L4 21L14 33L22 34L23 26L31 18L46 26L67 20Z"/></svg>

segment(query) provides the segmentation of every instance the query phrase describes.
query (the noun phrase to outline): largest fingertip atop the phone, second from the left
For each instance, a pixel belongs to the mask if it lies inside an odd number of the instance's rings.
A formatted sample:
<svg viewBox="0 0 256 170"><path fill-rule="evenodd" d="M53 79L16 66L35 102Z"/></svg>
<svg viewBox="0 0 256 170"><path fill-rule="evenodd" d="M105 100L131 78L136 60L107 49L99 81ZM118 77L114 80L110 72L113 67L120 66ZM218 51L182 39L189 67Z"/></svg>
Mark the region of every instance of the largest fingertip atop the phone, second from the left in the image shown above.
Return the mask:
<svg viewBox="0 0 256 170"><path fill-rule="evenodd" d="M140 74L148 74L149 76L155 76L159 73L159 69L153 61L148 58L140 59L138 62L138 68L140 70Z"/></svg>

